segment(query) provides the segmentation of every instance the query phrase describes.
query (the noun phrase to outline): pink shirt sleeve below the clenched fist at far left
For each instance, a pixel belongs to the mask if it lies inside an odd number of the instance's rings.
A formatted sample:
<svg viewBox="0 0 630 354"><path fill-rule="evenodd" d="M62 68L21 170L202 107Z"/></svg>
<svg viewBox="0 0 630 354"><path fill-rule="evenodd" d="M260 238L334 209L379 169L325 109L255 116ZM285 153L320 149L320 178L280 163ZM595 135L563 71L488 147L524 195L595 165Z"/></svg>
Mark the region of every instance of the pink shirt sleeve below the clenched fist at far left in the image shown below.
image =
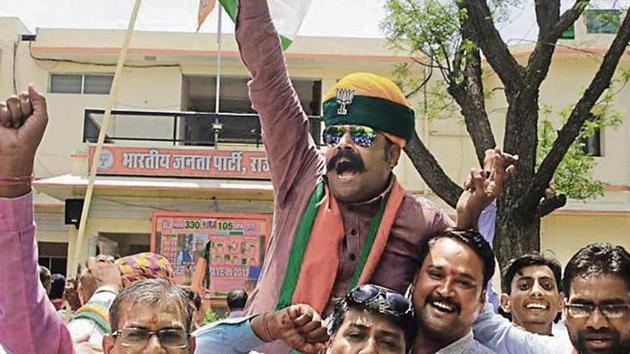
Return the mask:
<svg viewBox="0 0 630 354"><path fill-rule="evenodd" d="M39 281L31 194L0 198L0 309L0 342L10 352L72 352Z"/></svg>

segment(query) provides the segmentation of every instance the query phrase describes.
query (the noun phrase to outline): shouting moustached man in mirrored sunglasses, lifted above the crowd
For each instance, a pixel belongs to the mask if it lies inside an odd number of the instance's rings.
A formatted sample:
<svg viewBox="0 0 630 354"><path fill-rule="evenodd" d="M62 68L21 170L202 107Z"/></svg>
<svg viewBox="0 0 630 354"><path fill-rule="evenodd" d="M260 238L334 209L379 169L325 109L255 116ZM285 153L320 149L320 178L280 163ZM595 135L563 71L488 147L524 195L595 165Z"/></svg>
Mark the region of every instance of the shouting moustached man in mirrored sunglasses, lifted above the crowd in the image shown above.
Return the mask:
<svg viewBox="0 0 630 354"><path fill-rule="evenodd" d="M275 202L268 253L246 310L307 303L326 315L332 300L357 284L404 292L428 235L453 224L430 202L406 193L393 174L415 130L404 94L373 74L341 79L323 97L322 154L309 134L265 0L239 2L236 39L252 75L249 96L260 115ZM485 162L488 175L472 173L460 197L459 227L476 225L514 169L512 158L499 150Z"/></svg>

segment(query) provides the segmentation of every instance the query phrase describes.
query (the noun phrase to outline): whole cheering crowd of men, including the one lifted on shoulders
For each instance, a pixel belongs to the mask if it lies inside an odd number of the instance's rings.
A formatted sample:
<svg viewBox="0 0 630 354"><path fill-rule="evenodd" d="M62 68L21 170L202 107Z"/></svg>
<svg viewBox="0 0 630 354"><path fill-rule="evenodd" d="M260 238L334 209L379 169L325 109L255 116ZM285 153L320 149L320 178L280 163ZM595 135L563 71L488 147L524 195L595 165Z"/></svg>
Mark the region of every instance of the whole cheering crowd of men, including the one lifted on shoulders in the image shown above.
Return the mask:
<svg viewBox="0 0 630 354"><path fill-rule="evenodd" d="M451 220L393 173L415 129L396 84L367 73L337 82L320 151L265 0L239 3L236 39L275 201L254 291L230 293L228 318L200 325L206 294L141 253L90 257L68 281L76 295L55 300L62 280L37 265L31 182L48 115L31 86L0 103L0 353L630 353L621 246L587 245L564 272L547 255L519 256L494 293L494 217L482 211L518 157L489 150Z"/></svg>

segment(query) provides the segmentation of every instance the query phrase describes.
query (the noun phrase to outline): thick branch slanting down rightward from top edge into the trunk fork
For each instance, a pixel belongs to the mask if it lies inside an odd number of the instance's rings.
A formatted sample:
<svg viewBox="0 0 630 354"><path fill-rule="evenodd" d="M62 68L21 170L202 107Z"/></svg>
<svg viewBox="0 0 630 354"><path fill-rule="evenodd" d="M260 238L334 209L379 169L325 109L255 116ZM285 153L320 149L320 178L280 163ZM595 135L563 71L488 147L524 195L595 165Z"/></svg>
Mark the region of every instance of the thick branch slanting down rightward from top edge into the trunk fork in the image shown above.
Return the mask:
<svg viewBox="0 0 630 354"><path fill-rule="evenodd" d="M472 26L477 30L479 46L492 69L499 75L508 95L518 91L523 82L525 70L510 53L507 44L494 26L490 8L485 0L463 0L460 8L467 10Z"/></svg>

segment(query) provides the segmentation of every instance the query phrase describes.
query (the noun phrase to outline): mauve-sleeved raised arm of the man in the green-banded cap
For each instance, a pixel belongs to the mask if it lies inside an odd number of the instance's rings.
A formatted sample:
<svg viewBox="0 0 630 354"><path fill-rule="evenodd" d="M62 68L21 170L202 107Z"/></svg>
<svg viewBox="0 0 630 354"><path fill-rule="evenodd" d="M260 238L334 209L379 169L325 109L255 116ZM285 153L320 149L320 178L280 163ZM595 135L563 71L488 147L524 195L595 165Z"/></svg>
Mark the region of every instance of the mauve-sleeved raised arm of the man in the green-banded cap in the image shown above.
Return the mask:
<svg viewBox="0 0 630 354"><path fill-rule="evenodd" d="M276 203L282 205L297 180L323 173L323 158L289 80L266 0L239 1L236 40L252 75L249 97L260 115Z"/></svg>

